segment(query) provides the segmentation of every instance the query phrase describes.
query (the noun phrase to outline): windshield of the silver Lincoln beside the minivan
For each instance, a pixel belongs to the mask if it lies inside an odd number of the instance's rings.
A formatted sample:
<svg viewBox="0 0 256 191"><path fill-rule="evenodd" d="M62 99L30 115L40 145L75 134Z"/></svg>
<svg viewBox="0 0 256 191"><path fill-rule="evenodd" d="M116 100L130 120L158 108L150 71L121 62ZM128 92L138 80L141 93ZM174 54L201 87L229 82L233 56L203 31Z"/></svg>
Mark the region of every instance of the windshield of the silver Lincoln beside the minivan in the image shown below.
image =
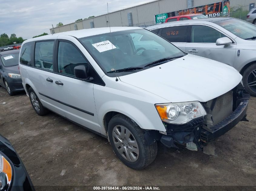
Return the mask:
<svg viewBox="0 0 256 191"><path fill-rule="evenodd" d="M227 29L229 32L242 39L250 39L256 36L256 25L239 19L227 19L217 21L215 24Z"/></svg>

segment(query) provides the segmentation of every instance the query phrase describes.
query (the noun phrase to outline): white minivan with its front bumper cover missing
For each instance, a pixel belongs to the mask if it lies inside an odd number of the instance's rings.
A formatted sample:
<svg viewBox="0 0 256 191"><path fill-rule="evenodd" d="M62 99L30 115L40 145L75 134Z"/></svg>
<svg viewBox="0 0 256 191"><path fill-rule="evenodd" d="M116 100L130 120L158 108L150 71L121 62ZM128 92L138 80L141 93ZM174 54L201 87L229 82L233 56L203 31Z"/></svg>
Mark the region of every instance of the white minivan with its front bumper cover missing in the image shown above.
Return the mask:
<svg viewBox="0 0 256 191"><path fill-rule="evenodd" d="M50 110L108 138L134 169L154 161L158 142L197 151L246 121L250 96L237 70L139 27L26 40L19 69L38 115Z"/></svg>

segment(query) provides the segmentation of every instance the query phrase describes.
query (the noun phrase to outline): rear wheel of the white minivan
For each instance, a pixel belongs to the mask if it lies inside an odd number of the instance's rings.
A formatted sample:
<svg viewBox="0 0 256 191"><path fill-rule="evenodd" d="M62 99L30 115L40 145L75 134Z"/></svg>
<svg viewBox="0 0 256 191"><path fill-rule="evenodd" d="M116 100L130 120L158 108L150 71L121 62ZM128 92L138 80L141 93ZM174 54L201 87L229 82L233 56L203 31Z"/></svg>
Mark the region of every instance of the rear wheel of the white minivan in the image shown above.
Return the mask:
<svg viewBox="0 0 256 191"><path fill-rule="evenodd" d="M30 103L32 104L32 107L38 115L43 116L49 113L49 110L42 105L41 101L39 100L39 98L35 94L35 91L32 88L28 89L28 95Z"/></svg>

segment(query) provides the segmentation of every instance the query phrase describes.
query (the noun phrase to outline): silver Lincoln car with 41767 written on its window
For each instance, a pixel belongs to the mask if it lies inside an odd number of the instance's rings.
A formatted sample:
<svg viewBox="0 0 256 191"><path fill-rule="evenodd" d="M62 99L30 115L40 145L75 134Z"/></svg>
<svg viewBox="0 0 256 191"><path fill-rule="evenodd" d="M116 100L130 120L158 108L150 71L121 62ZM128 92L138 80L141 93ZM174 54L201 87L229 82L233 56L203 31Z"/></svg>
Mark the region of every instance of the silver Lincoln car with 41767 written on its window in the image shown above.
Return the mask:
<svg viewBox="0 0 256 191"><path fill-rule="evenodd" d="M235 18L205 18L147 27L186 53L233 66L256 97L256 26Z"/></svg>

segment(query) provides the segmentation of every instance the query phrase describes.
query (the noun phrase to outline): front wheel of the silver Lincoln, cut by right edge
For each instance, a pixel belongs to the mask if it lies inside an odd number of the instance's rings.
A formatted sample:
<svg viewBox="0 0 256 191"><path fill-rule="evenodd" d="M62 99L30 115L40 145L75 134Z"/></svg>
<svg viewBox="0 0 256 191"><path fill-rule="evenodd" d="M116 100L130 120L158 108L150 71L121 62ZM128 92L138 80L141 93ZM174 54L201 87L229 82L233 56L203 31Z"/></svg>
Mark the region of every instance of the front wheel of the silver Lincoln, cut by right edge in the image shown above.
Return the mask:
<svg viewBox="0 0 256 191"><path fill-rule="evenodd" d="M251 95L256 97L256 63L250 65L243 75L243 84L245 90Z"/></svg>

